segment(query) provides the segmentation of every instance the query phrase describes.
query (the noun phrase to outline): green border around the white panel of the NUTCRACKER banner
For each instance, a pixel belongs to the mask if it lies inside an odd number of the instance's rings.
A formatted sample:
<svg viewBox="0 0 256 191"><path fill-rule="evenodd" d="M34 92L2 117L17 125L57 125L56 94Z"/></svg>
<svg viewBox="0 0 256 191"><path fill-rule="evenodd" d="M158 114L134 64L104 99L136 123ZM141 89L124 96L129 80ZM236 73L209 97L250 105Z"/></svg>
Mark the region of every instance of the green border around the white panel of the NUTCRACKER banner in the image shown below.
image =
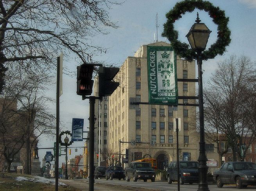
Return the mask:
<svg viewBox="0 0 256 191"><path fill-rule="evenodd" d="M157 54L150 54L154 51L173 51L174 52L174 78L175 78L175 96L153 96L150 91L150 81L152 81L152 76L150 79L151 70L155 68L155 73L157 73ZM150 65L151 64L151 65ZM155 64L155 66L154 66ZM154 66L154 67L152 67ZM171 46L147 46L147 67L148 67L148 91L149 91L149 103L157 105L177 105L178 104L178 82L177 82L177 55ZM155 83L158 84L158 78L156 78ZM152 99L155 98L155 99ZM170 99L171 98L171 99Z"/></svg>

